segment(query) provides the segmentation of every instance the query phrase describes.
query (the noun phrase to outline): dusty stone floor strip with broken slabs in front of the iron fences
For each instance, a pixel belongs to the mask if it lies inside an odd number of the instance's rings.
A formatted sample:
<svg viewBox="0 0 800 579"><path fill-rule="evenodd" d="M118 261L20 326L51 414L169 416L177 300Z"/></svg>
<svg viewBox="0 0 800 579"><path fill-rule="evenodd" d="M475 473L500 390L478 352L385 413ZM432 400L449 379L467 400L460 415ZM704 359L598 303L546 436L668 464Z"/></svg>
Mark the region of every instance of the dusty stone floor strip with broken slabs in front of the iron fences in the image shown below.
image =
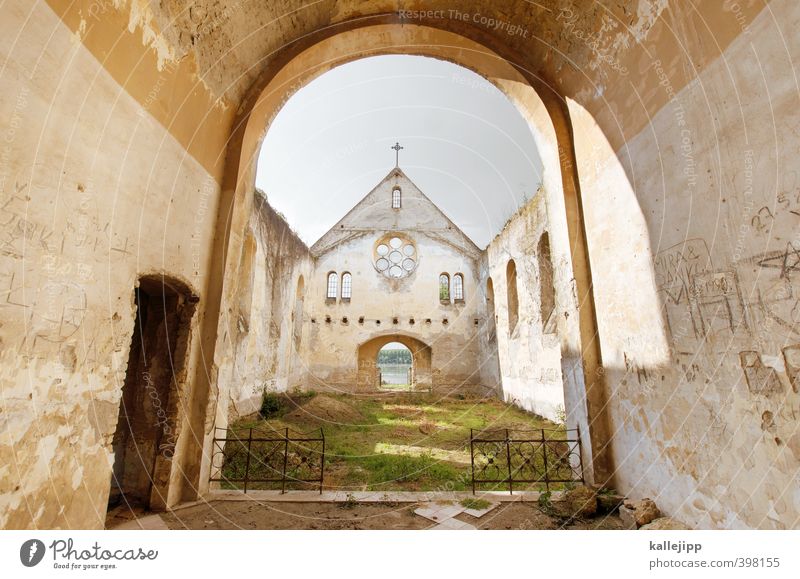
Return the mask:
<svg viewBox="0 0 800 579"><path fill-rule="evenodd" d="M569 520L543 512L532 496L481 495L483 509L461 504L471 493L219 493L167 513L109 521L112 529L621 529L619 516ZM464 494L465 497L455 496ZM533 494L533 493L531 493ZM256 496L258 495L258 496ZM356 496L364 495L364 496ZM420 496L417 496L420 495Z"/></svg>

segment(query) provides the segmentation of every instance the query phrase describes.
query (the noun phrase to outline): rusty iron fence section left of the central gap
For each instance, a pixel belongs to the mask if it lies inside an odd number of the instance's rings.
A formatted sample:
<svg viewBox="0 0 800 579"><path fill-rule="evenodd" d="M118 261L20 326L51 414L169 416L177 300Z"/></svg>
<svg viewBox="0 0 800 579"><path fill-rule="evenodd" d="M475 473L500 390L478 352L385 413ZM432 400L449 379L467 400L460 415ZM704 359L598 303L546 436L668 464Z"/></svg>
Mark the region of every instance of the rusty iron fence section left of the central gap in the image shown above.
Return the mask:
<svg viewBox="0 0 800 579"><path fill-rule="evenodd" d="M319 486L325 475L325 433L289 428L232 430L214 433L209 482L223 488L251 490Z"/></svg>

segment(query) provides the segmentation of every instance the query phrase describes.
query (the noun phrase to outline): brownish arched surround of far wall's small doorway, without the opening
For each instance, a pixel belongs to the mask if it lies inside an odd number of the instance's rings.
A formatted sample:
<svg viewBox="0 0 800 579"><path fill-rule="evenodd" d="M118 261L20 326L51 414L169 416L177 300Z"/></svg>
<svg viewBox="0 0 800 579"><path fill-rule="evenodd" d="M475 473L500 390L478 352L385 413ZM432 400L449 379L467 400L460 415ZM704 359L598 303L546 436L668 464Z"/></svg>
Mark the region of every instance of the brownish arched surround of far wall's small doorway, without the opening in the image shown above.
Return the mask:
<svg viewBox="0 0 800 579"><path fill-rule="evenodd" d="M386 334L371 338L358 346L357 385L360 391L377 390L379 372L376 360L378 352L386 344L398 342L411 350L414 360L414 387L416 390L430 390L433 387L432 349L422 340L404 334Z"/></svg>

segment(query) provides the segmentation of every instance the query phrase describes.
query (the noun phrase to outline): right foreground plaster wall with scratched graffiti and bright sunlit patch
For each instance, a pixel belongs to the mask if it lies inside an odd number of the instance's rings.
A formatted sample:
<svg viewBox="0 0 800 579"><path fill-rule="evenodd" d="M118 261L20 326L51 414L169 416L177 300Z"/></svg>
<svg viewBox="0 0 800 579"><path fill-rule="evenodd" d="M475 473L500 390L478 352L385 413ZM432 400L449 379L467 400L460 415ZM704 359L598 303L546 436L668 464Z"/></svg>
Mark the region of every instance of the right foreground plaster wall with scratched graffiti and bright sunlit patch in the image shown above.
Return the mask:
<svg viewBox="0 0 800 579"><path fill-rule="evenodd" d="M682 90L651 63L671 100L616 152L570 105L616 479L699 527L800 523L798 25L771 2Z"/></svg>

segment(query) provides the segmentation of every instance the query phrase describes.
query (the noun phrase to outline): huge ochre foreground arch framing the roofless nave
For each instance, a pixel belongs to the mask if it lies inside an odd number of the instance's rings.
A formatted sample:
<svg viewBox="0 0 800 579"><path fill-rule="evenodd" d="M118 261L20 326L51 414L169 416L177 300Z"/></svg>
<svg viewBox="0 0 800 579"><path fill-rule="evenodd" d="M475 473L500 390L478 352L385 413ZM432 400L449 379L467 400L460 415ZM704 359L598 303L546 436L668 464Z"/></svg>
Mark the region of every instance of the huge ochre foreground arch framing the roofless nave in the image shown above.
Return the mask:
<svg viewBox="0 0 800 579"><path fill-rule="evenodd" d="M535 73L467 36L433 26L365 23L341 31L331 30L302 46L288 46L276 57L276 66L251 85L232 131L218 213L218 230L225 231L215 247L220 270L210 282L210 293L220 300L218 324L209 337L224 336L233 320L226 316L235 303L239 277L237 260L244 224L253 205L256 161L272 120L297 90L332 68L370 56L410 54L447 60L468 68L492 82L518 108L533 133L544 164L543 185L551 224L553 259L565 264L555 279L556 299L570 309L559 328L567 424L580 428L584 464L589 480L610 481L613 473L606 417L606 388L592 290L592 276L583 222L583 208L575 160L570 111L565 99ZM513 55L512 55L513 57ZM568 273L567 273L568 272ZM217 285L218 284L218 285ZM216 287L214 287L216 285ZM226 357L218 343L215 363ZM222 392L227 384L217 384ZM226 423L224 404L217 407L216 422ZM205 445L210 445L206 436ZM201 468L206 471L207 464ZM204 475L200 477L202 492Z"/></svg>

